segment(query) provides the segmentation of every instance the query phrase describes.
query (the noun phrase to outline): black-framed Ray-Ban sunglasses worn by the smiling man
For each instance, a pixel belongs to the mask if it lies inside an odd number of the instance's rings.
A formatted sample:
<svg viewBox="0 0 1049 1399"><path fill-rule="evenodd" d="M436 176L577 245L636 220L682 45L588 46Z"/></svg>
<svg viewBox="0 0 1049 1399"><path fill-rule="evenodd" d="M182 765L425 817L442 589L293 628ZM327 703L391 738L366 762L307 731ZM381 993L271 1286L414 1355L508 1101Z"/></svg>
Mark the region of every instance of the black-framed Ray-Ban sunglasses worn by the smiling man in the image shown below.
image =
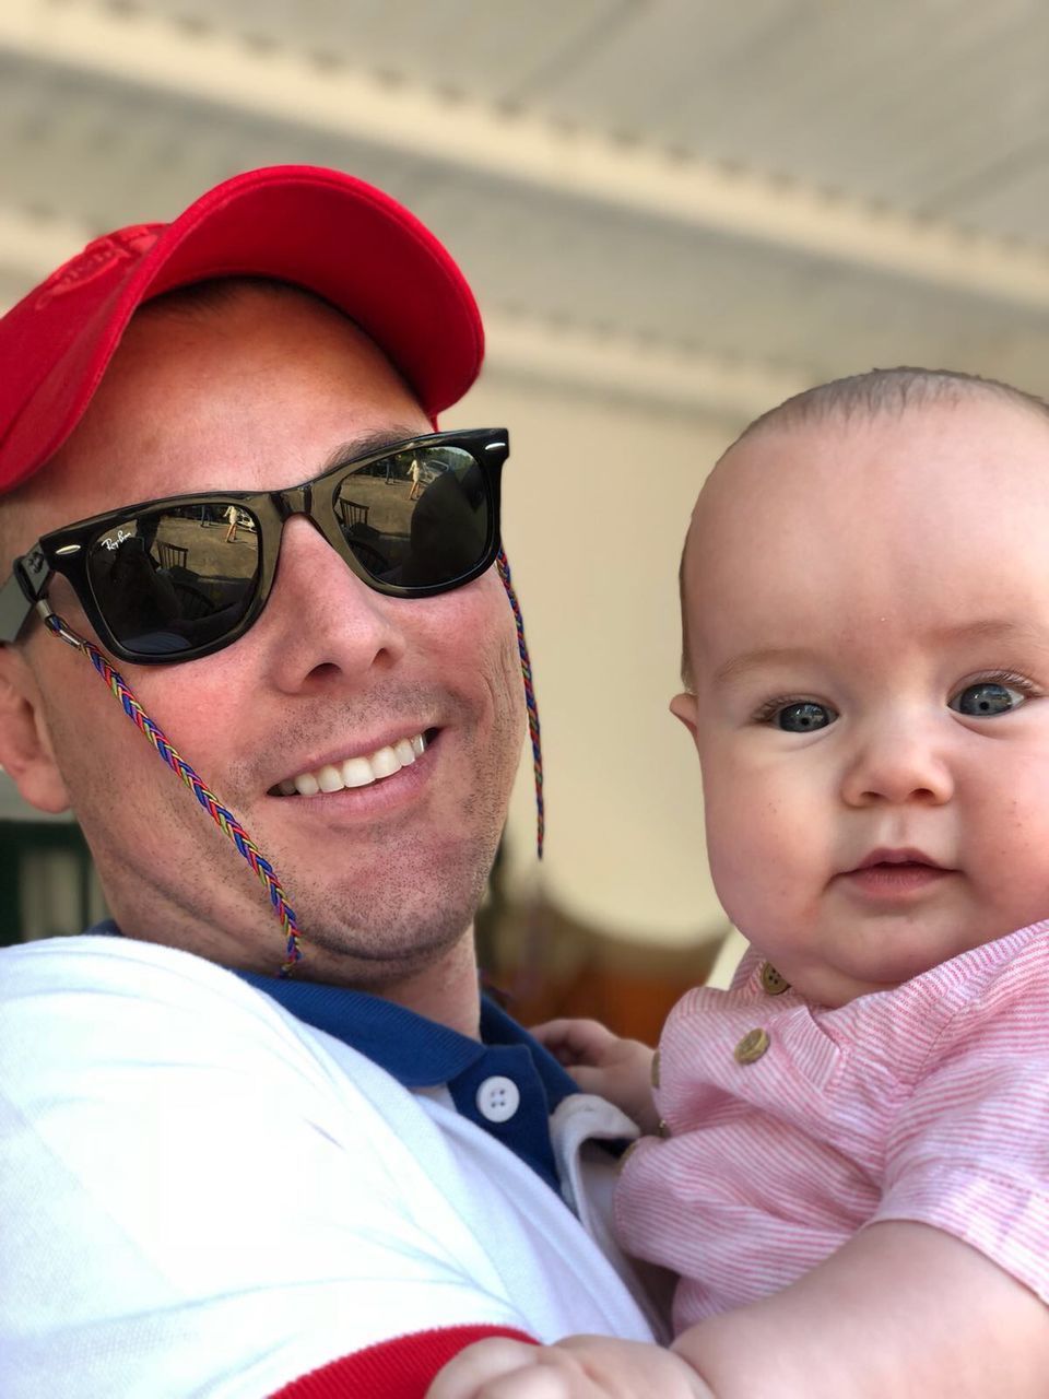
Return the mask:
<svg viewBox="0 0 1049 1399"><path fill-rule="evenodd" d="M0 588L0 642L18 639L50 579L69 579L120 660L211 655L259 618L281 532L308 515L352 572L387 597L432 597L499 553L501 428L435 432L327 467L283 491L172 495L41 536Z"/></svg>

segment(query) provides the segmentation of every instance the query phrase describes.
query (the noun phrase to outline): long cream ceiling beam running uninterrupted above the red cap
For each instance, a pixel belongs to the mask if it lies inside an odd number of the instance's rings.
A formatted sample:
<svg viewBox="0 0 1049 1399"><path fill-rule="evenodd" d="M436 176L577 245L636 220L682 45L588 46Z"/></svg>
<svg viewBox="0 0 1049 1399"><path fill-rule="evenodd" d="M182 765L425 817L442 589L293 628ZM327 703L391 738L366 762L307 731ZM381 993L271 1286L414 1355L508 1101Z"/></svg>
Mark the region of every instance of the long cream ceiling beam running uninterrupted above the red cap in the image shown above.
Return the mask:
<svg viewBox="0 0 1049 1399"><path fill-rule="evenodd" d="M306 126L415 158L874 270L966 295L1049 308L1049 255L990 235L871 210L806 186L624 148L469 99L305 55L190 31L87 0L4 0L0 50L179 98Z"/></svg>

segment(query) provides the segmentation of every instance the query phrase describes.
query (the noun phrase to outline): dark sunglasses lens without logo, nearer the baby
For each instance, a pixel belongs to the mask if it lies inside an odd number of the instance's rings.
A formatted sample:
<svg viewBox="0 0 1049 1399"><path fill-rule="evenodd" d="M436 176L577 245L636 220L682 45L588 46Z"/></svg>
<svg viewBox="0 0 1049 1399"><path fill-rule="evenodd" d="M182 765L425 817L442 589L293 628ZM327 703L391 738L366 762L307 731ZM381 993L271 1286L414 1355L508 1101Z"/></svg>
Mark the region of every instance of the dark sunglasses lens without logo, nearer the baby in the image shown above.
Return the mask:
<svg viewBox="0 0 1049 1399"><path fill-rule="evenodd" d="M484 473L459 446L420 446L347 471L334 492L361 567L400 588L441 588L485 557L492 506Z"/></svg>

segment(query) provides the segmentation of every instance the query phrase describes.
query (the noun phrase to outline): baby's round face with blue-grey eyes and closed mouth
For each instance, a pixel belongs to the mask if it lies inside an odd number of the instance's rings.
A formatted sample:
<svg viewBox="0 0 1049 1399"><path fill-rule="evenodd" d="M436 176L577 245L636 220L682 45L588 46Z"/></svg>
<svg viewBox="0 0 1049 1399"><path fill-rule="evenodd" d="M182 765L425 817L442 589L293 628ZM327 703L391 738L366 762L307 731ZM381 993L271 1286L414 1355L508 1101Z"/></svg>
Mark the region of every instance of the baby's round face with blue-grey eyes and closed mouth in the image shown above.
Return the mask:
<svg viewBox="0 0 1049 1399"><path fill-rule="evenodd" d="M715 884L789 982L842 1004L1049 916L1049 420L759 431L684 590Z"/></svg>

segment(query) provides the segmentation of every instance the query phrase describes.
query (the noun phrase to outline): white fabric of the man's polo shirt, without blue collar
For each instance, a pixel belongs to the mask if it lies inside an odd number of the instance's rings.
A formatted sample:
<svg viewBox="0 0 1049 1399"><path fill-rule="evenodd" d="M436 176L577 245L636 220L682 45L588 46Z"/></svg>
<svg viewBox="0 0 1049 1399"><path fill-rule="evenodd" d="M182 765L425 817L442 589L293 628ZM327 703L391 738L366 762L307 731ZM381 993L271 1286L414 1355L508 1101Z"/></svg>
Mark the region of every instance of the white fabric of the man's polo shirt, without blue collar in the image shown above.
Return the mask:
<svg viewBox="0 0 1049 1399"><path fill-rule="evenodd" d="M632 1126L575 1094L551 1129L566 1198L607 1244L583 1142ZM611 1174L608 1157L599 1193ZM558 1195L446 1088L410 1091L189 953L105 936L0 951L4 1399L256 1399L474 1323L652 1335Z"/></svg>

